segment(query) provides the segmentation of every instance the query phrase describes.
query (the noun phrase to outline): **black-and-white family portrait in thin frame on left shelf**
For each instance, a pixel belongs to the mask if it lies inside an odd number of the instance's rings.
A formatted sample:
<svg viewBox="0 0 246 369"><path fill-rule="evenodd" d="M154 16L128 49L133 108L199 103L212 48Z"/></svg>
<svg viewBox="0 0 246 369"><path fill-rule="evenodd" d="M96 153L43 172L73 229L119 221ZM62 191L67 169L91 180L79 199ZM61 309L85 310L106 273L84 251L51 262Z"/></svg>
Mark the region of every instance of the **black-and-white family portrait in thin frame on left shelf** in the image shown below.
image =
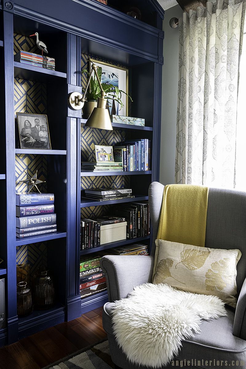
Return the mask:
<svg viewBox="0 0 246 369"><path fill-rule="evenodd" d="M51 150L47 115L17 112L21 149Z"/></svg>

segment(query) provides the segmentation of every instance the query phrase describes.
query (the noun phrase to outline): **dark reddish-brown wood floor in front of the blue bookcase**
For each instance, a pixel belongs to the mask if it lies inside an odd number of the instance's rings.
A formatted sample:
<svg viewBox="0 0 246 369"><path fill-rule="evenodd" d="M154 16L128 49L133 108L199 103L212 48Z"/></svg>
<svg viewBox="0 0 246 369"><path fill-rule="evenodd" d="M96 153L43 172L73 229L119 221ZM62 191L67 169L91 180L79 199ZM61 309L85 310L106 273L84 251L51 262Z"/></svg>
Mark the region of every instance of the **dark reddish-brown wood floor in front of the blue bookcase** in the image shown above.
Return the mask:
<svg viewBox="0 0 246 369"><path fill-rule="evenodd" d="M0 369L40 369L107 337L103 307L0 348Z"/></svg>

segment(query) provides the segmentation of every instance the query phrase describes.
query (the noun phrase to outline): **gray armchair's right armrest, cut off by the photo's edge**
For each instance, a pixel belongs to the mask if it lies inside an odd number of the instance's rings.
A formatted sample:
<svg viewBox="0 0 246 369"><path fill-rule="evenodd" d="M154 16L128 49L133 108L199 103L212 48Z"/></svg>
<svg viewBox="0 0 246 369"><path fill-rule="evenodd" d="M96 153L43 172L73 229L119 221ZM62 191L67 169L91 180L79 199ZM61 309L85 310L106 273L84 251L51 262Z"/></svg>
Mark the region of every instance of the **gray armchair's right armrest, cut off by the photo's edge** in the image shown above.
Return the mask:
<svg viewBox="0 0 246 369"><path fill-rule="evenodd" d="M238 297L232 333L246 340L246 279Z"/></svg>

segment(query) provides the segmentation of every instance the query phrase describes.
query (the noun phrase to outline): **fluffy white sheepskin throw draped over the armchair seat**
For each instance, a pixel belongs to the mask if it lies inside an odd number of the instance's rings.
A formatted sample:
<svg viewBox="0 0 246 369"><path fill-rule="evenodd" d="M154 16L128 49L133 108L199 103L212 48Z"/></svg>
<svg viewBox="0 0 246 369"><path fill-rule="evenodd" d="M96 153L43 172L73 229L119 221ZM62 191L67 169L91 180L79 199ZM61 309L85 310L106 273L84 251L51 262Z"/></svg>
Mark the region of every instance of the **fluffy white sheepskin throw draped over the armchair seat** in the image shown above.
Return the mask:
<svg viewBox="0 0 246 369"><path fill-rule="evenodd" d="M115 301L112 322L129 361L159 368L177 355L182 339L200 332L202 319L224 315L224 303L216 296L183 292L166 283L145 283L126 299Z"/></svg>

